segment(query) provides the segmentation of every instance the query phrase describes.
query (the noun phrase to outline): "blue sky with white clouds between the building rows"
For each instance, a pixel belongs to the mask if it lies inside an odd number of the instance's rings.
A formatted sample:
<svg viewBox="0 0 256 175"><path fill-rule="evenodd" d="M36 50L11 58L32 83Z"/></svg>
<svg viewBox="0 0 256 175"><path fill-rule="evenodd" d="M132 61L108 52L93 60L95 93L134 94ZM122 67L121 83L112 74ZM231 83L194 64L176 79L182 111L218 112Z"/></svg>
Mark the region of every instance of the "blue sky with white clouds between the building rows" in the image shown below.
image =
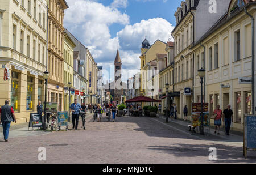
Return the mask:
<svg viewBox="0 0 256 175"><path fill-rule="evenodd" d="M122 80L139 72L141 44L167 42L176 21L174 13L181 0L66 0L64 27L92 53L98 66L112 79L119 49Z"/></svg>

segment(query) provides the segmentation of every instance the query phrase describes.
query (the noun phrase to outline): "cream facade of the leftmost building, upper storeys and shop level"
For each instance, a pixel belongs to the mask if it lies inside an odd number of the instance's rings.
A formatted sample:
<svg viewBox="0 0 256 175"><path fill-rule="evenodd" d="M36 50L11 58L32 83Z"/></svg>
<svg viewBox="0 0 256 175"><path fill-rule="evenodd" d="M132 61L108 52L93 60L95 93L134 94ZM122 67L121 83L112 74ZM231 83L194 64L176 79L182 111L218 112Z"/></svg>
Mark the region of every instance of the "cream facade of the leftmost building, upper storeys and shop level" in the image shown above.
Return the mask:
<svg viewBox="0 0 256 175"><path fill-rule="evenodd" d="M17 123L28 122L44 99L46 5L46 1L0 1L0 104L10 100ZM8 80L3 80L5 73Z"/></svg>

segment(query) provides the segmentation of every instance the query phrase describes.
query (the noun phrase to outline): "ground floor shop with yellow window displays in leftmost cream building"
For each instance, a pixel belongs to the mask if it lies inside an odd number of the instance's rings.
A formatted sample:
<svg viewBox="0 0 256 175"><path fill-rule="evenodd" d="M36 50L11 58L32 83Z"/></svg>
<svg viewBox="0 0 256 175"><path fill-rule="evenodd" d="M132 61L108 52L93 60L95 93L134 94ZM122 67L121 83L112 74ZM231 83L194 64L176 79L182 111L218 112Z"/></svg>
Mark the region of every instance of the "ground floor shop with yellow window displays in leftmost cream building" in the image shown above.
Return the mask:
<svg viewBox="0 0 256 175"><path fill-rule="evenodd" d="M6 69L5 69L6 68ZM43 74L21 65L6 64L0 69L0 104L10 100L17 123L28 122L30 113L36 112L38 101L44 101ZM9 80L3 80L5 71L9 72Z"/></svg>

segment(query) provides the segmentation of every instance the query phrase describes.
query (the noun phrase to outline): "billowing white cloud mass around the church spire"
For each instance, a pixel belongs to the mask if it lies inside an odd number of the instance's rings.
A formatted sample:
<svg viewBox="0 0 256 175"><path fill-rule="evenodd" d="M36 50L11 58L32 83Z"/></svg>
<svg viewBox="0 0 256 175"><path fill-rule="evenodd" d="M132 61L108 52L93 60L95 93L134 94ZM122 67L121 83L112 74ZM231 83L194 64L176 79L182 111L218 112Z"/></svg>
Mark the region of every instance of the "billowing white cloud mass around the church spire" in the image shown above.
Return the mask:
<svg viewBox="0 0 256 175"><path fill-rule="evenodd" d="M125 8L127 0L114 0L110 6L104 6L96 0L67 2L69 8L65 11L64 27L88 47L96 63L107 70L113 66L119 48L122 69L127 72L138 72L140 48L144 37L147 36L150 44L157 39L166 42L173 29L173 26L162 18L142 20L129 25L129 16L117 9ZM124 27L115 37L111 37L109 27L114 23Z"/></svg>

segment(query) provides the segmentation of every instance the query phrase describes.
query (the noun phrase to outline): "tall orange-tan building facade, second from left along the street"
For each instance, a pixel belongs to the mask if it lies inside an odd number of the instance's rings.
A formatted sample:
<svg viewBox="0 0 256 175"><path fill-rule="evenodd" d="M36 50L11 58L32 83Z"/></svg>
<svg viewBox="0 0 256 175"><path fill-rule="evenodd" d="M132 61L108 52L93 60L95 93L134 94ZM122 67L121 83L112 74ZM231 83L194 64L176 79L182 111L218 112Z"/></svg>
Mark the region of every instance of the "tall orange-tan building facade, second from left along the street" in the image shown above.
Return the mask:
<svg viewBox="0 0 256 175"><path fill-rule="evenodd" d="M64 10L65 0L49 0L48 17L48 94L47 101L57 102L58 110L63 111L64 97Z"/></svg>

